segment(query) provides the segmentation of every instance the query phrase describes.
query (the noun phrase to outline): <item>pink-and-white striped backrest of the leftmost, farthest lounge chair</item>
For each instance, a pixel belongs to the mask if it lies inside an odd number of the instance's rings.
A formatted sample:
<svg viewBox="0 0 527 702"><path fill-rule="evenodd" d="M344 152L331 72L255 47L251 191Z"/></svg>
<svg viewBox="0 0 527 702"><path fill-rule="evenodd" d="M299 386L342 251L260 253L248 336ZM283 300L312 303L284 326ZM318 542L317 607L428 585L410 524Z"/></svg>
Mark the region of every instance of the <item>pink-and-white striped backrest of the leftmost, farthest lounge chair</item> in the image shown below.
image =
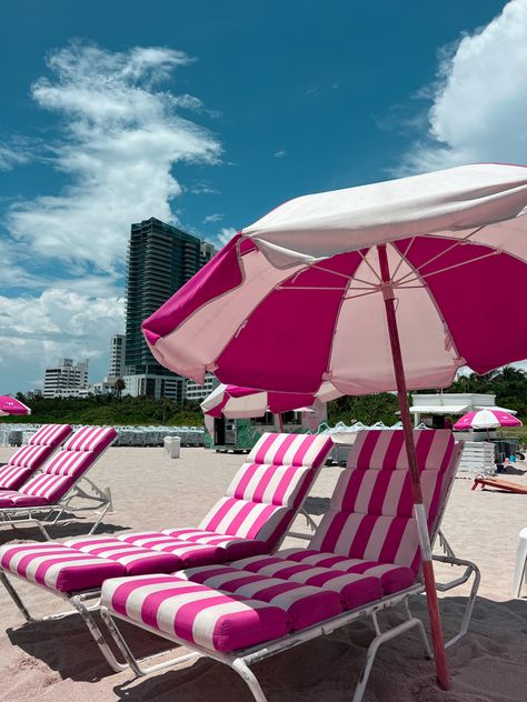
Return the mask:
<svg viewBox="0 0 527 702"><path fill-rule="evenodd" d="M69 424L43 424L27 445L18 449L7 463L0 465L0 490L19 490L72 431Z"/></svg>

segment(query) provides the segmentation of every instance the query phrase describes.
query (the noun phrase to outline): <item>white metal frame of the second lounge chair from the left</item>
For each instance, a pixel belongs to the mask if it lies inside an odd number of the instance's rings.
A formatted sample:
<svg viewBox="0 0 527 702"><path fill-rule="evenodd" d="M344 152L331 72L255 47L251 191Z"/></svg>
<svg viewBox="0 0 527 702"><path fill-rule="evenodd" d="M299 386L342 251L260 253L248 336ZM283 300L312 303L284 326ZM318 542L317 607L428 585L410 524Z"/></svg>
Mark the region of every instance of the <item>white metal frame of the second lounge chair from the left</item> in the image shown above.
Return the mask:
<svg viewBox="0 0 527 702"><path fill-rule="evenodd" d="M111 497L109 493L105 492L100 488L98 488L91 480L89 480L86 475L93 468L93 465L99 461L99 459L108 451L108 449L112 445L113 441L109 443L93 460L91 465L80 475L76 482L71 485L71 488L59 499L57 502L52 504L41 504L38 507L11 507L11 508L0 508L0 526L3 524L10 524L16 528L20 524L37 524L43 534L47 541L51 541L51 536L49 535L44 522L48 525L54 525L62 517L62 514L67 510L71 510L72 512L93 512L97 509L101 509L99 517L97 518L93 526L88 532L89 534L93 534L96 529L101 523L102 519L106 517L108 510L112 507ZM53 453L53 457L57 454ZM39 474L41 471L37 471L36 474ZM82 489L82 481L88 484L88 489ZM71 502L76 499L83 500L93 504L88 504L87 507L82 505L72 505ZM53 513L57 512L54 519ZM38 517L40 515L40 519Z"/></svg>

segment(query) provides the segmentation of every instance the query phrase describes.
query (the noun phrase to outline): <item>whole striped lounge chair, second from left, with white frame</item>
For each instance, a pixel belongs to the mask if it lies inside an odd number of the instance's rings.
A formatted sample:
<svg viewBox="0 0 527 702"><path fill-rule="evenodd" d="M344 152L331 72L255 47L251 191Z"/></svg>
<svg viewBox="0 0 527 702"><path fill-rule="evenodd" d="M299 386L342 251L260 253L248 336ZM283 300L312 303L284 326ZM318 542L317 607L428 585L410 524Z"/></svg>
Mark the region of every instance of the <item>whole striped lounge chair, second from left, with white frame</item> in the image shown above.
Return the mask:
<svg viewBox="0 0 527 702"><path fill-rule="evenodd" d="M46 539L49 539L42 521L49 521L53 513L56 517L52 523L56 523L67 509L74 512L101 509L90 531L93 533L108 511L110 500L88 481L86 474L116 438L117 432L112 427L82 427L76 431L62 449L20 490L0 492L0 524L34 523ZM95 489L91 494L78 484L81 479ZM73 503L76 499L88 501L90 504L79 507Z"/></svg>

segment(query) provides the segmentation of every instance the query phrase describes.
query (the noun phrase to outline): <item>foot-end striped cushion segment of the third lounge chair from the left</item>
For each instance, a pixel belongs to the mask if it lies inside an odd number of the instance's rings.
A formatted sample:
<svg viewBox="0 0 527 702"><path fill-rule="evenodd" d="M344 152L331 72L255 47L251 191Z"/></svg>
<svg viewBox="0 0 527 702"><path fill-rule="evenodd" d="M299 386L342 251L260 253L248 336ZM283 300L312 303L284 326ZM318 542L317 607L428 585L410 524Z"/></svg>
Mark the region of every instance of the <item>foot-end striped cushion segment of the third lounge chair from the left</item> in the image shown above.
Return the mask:
<svg viewBox="0 0 527 702"><path fill-rule="evenodd" d="M59 592L78 592L100 586L107 578L123 575L122 564L90 556L60 543L11 544L0 548L6 570Z"/></svg>

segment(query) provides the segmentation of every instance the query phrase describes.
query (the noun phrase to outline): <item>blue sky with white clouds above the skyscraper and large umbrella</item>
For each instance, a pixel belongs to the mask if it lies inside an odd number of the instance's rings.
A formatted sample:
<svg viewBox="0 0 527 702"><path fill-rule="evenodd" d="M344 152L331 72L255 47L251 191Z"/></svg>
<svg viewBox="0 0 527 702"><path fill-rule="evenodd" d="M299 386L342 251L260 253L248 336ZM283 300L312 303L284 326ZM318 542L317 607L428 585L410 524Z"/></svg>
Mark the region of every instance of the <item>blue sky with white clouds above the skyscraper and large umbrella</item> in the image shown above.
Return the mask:
<svg viewBox="0 0 527 702"><path fill-rule="evenodd" d="M527 0L18 0L0 46L0 390L106 372L130 223L527 162Z"/></svg>

